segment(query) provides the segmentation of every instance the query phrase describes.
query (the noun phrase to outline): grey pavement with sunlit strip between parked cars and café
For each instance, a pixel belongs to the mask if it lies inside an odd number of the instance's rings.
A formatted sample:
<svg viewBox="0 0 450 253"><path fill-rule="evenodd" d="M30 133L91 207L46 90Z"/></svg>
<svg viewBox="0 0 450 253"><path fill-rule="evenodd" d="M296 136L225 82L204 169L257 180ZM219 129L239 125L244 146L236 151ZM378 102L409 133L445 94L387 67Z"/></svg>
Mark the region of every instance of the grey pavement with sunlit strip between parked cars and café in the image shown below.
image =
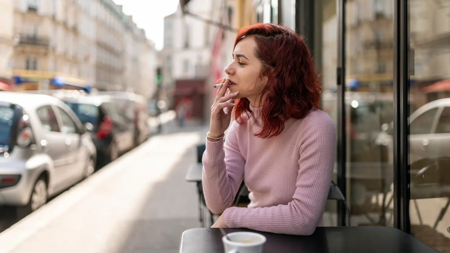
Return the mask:
<svg viewBox="0 0 450 253"><path fill-rule="evenodd" d="M184 181L207 128L170 122L161 135L103 167L0 233L0 253L175 253L200 226Z"/></svg>

